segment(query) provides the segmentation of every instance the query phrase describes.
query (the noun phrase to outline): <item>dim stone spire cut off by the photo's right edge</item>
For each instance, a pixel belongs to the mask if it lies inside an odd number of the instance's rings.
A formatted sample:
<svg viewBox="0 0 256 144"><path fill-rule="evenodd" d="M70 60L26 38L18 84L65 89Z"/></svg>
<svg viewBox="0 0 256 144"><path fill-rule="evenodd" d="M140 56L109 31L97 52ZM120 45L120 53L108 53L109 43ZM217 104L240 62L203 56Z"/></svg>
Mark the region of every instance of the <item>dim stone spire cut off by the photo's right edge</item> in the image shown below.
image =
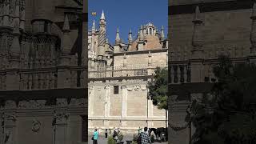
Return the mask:
<svg viewBox="0 0 256 144"><path fill-rule="evenodd" d="M252 20L252 26L250 31L250 54L256 54L256 3L254 2L253 10L250 19Z"/></svg>

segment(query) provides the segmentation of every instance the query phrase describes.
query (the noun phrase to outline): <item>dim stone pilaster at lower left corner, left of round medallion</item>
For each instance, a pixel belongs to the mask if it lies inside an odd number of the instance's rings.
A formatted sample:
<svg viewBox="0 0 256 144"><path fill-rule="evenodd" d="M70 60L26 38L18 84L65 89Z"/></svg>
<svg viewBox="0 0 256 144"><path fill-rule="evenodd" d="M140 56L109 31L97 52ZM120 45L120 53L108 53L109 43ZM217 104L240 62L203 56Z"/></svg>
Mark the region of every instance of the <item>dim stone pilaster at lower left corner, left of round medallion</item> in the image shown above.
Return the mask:
<svg viewBox="0 0 256 144"><path fill-rule="evenodd" d="M6 101L4 110L4 142L5 144L15 144L16 137L16 102Z"/></svg>

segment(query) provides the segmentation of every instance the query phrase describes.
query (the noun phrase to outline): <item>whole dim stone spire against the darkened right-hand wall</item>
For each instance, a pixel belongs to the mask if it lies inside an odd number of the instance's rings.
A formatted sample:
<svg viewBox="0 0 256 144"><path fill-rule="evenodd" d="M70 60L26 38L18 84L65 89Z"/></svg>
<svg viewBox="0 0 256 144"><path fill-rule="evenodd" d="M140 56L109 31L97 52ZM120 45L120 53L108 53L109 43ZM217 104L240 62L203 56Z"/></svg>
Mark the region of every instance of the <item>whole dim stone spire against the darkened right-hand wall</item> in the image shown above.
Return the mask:
<svg viewBox="0 0 256 144"><path fill-rule="evenodd" d="M194 14L194 20L192 21L194 23L194 33L192 38L192 57L193 58L202 58L203 50L202 50L202 19L199 7L196 7L195 14Z"/></svg>

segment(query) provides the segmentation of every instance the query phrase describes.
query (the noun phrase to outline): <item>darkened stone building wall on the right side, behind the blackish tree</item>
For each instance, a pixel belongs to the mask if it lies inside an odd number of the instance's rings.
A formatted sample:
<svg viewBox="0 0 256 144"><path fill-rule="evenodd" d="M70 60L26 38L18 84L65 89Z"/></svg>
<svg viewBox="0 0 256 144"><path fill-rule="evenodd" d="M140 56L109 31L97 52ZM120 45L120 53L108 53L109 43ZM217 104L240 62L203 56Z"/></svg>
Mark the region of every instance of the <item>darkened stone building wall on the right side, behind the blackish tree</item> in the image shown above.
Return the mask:
<svg viewBox="0 0 256 144"><path fill-rule="evenodd" d="M229 55L234 63L255 61L256 5L250 0L169 0L168 21L168 139L188 144L194 126L185 122L186 111L218 81L212 70L218 55Z"/></svg>

